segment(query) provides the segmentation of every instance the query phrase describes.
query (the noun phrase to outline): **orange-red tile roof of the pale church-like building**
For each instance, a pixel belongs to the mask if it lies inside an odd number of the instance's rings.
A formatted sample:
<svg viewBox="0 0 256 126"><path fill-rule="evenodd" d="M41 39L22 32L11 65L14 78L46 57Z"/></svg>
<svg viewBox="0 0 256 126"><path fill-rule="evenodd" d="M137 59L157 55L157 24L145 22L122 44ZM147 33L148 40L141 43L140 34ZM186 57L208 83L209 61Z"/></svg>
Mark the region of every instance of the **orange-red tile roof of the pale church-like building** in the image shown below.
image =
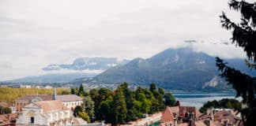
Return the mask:
<svg viewBox="0 0 256 126"><path fill-rule="evenodd" d="M66 106L58 101L40 101L35 103L43 109L43 113L67 110Z"/></svg>

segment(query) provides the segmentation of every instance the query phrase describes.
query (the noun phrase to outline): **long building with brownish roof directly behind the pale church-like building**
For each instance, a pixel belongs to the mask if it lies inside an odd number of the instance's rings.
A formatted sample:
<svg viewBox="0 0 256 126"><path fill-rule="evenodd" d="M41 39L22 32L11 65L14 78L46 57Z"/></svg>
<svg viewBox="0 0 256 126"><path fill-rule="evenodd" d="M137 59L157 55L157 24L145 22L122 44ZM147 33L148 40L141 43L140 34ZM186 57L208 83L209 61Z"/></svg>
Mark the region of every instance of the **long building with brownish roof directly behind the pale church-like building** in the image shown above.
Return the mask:
<svg viewBox="0 0 256 126"><path fill-rule="evenodd" d="M15 100L15 107L17 113L21 113L22 107L28 105L29 102L51 100L62 102L68 109L74 109L76 106L81 106L83 104L83 98L77 95L57 95L55 89L53 95L25 95L21 98L17 98Z"/></svg>

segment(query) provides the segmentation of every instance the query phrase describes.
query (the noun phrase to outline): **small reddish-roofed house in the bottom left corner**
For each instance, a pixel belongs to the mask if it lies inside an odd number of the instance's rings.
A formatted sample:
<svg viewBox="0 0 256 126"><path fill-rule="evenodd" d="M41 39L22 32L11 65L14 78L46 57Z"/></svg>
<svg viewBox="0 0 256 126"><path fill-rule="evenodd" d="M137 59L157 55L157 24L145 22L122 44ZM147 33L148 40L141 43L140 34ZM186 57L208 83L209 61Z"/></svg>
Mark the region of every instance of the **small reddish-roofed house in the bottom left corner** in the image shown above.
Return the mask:
<svg viewBox="0 0 256 126"><path fill-rule="evenodd" d="M15 126L17 113L7 113L0 115L0 126Z"/></svg>

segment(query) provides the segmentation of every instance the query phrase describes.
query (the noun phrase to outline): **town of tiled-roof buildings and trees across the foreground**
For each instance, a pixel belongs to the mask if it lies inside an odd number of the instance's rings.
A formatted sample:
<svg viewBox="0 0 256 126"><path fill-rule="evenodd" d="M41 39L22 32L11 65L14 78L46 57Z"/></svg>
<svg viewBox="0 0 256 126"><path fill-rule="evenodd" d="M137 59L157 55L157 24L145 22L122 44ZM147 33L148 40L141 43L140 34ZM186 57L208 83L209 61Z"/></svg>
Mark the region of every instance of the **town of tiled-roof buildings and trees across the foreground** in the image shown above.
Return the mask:
<svg viewBox="0 0 256 126"><path fill-rule="evenodd" d="M62 94L57 94L56 88L52 88L51 95L21 95L13 102L0 102L0 125L236 126L242 120L235 109L210 107L201 113L195 106L183 106L170 92L164 92L153 83L149 89L137 87L130 90L128 87L127 83L122 83L115 91L107 88L85 91L81 85L79 89L71 88L70 92L62 91ZM108 107L115 108L107 109L107 99L110 98L115 105Z"/></svg>

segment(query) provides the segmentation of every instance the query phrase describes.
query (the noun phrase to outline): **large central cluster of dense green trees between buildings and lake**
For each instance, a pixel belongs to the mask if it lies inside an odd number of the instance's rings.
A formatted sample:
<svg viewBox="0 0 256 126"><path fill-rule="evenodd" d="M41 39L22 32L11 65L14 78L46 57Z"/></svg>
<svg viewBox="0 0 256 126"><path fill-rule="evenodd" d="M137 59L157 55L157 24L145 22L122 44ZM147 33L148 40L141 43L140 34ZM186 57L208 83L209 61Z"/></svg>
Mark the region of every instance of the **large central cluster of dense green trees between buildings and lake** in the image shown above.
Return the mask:
<svg viewBox="0 0 256 126"><path fill-rule="evenodd" d="M154 85L152 84L152 91L142 87L132 91L128 83L120 84L115 91L92 89L89 95L95 105L96 120L123 124L141 118L144 113L159 112L165 107L162 95L164 89L157 89Z"/></svg>

